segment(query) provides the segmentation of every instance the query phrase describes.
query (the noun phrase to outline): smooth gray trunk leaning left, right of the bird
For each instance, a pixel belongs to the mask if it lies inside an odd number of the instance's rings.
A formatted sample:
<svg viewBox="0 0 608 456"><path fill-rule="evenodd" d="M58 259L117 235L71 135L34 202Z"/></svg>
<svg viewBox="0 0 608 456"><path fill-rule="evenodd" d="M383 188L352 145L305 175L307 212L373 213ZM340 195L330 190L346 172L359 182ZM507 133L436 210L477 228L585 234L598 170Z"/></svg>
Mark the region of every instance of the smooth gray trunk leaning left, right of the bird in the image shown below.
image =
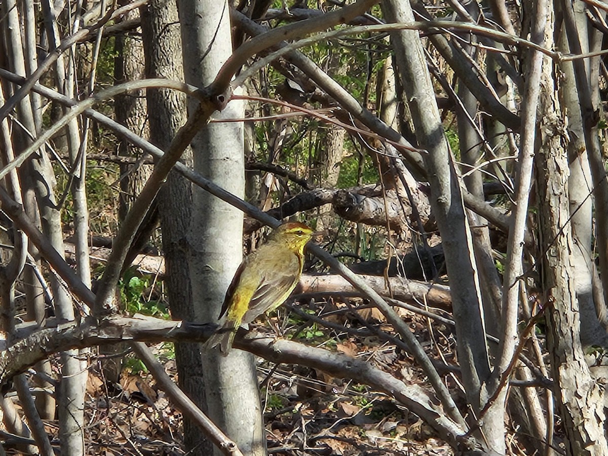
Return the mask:
<svg viewBox="0 0 608 456"><path fill-rule="evenodd" d="M412 22L409 2L384 2L384 11L392 22ZM462 369L467 399L473 409L482 409L483 383L490 369L485 342L482 299L477 266L473 255L471 231L465 215L460 182L444 137L443 125L435 101L435 92L426 66L426 58L418 32L392 32L396 63L409 101L418 145L423 154L431 190L430 205L441 232L447 274L452 290L454 319L457 322L458 361ZM502 423L500 415L499 423ZM499 423L494 423L499 424ZM484 427L488 445L503 451L501 426Z"/></svg>

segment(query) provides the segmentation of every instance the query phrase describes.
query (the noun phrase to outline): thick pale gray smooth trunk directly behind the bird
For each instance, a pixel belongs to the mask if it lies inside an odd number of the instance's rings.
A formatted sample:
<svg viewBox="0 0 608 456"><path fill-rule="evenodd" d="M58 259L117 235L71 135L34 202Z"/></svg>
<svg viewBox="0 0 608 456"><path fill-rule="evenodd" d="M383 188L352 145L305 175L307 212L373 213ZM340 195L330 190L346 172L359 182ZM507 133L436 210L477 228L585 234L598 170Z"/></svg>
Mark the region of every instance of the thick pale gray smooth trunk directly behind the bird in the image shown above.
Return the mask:
<svg viewBox="0 0 608 456"><path fill-rule="evenodd" d="M228 2L182 1L178 5L186 82L206 86L232 54ZM190 106L193 108L194 106ZM230 102L218 117L243 117ZM207 123L192 142L195 170L243 197L242 123ZM188 260L196 319L213 322L243 254L243 213L200 188L193 191ZM244 454L266 454L254 358L232 350L202 354L207 412ZM216 451L218 454L218 451Z"/></svg>

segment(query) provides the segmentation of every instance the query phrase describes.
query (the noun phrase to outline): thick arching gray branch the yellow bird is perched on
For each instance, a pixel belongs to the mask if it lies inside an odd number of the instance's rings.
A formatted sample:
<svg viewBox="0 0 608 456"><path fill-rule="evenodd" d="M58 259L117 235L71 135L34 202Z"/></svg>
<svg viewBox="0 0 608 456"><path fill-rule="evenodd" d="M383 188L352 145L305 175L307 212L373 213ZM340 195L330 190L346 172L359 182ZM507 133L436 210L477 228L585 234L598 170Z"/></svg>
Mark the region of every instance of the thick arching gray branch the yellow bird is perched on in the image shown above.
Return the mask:
<svg viewBox="0 0 608 456"><path fill-rule="evenodd" d="M32 328L35 326L32 325ZM80 325L67 323L57 328L35 330L24 339L0 352L0 384L27 369L49 354L75 348L112 344L125 340L138 342L204 342L215 331L216 325L176 322L153 317L110 317L99 323L91 317ZM465 430L450 420L434 398L417 384L407 384L370 363L345 354L331 353L322 348L306 347L289 340L261 337L257 333L239 331L234 346L247 350L278 364L300 364L318 368L340 378L356 379L381 390L410 411L423 418L455 447L463 442Z"/></svg>

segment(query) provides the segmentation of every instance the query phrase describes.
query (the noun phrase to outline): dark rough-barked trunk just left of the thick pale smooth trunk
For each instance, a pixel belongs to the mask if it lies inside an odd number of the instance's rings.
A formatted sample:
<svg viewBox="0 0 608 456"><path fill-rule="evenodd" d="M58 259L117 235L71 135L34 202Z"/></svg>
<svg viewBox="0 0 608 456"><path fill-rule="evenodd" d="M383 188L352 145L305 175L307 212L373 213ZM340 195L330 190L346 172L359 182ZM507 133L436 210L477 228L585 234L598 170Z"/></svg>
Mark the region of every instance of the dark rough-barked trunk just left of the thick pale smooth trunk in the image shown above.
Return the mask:
<svg viewBox="0 0 608 456"><path fill-rule="evenodd" d="M181 49L176 2L153 0L142 7L140 13L146 77L181 79L184 74L182 61L174 58ZM168 89L148 89L147 102L149 111L154 112L149 119L150 141L167 150L171 138L186 120L185 95ZM184 152L182 161L192 166L192 151L189 148ZM157 199L171 316L176 320L193 321L192 286L185 256L192 214L190 182L176 171L171 171ZM175 360L179 386L190 399L202 406L205 403L205 387L199 344L175 344ZM210 454L212 447L199 427L187 416L183 416L183 420L185 451L193 456Z"/></svg>

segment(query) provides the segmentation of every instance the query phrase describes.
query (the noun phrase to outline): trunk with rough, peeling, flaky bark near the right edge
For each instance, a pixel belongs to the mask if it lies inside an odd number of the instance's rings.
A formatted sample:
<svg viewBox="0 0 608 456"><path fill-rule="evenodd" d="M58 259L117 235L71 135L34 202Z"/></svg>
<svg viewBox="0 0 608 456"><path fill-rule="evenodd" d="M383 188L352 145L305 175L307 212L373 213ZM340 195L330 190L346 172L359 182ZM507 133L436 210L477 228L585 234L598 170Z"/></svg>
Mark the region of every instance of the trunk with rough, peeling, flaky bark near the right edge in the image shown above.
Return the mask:
<svg viewBox="0 0 608 456"><path fill-rule="evenodd" d="M551 67L551 65L545 65ZM545 70L547 71L547 70ZM569 455L606 455L603 390L593 381L580 341L581 322L572 264L568 217L568 161L565 124L550 75L544 78L536 185L546 306L547 343L556 384L556 402Z"/></svg>

